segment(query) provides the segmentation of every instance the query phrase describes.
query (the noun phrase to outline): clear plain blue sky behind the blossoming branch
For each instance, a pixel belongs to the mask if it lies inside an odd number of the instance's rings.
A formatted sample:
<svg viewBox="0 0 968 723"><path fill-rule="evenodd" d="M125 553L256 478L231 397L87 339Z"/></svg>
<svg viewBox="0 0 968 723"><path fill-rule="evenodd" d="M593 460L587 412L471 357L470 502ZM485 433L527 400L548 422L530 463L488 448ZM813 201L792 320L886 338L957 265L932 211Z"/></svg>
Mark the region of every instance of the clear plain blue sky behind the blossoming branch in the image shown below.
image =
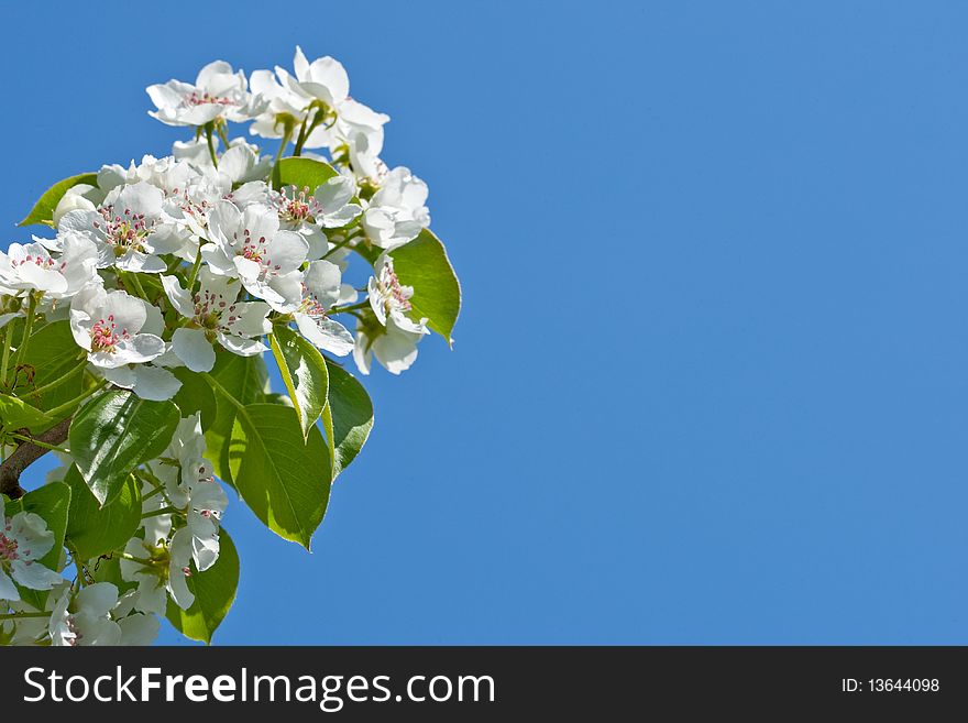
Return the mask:
<svg viewBox="0 0 968 723"><path fill-rule="evenodd" d="M968 643L964 3L2 13L9 222L301 43L462 277L311 556L230 506L217 643Z"/></svg>

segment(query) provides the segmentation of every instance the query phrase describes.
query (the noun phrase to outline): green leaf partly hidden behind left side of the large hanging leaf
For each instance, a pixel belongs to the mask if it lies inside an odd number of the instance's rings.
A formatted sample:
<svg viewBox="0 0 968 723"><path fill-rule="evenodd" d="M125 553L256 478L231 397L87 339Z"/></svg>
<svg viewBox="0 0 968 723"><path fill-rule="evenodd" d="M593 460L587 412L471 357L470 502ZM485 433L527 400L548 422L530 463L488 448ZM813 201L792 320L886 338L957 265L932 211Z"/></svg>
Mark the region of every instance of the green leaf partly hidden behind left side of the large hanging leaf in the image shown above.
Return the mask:
<svg viewBox="0 0 968 723"><path fill-rule="evenodd" d="M260 357L240 357L230 351L216 352L212 376L235 402L241 405L262 402L268 392L268 370ZM216 476L232 484L229 468L229 439L235 423L235 405L222 395L216 395L216 419L205 432L208 446L208 460L211 461Z"/></svg>

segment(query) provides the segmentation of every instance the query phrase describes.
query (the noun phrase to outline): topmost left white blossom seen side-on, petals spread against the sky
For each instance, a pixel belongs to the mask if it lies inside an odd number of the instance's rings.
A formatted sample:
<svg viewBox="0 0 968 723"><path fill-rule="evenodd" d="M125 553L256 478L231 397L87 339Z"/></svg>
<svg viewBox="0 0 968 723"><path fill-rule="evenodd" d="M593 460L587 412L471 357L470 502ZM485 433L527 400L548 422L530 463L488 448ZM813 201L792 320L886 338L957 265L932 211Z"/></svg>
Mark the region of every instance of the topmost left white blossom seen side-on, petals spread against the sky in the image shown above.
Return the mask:
<svg viewBox="0 0 968 723"><path fill-rule="evenodd" d="M148 97L157 108L148 116L167 125L205 125L213 121L245 121L261 113L262 98L248 90L245 74L235 73L224 61L209 63L195 85L180 80L148 86Z"/></svg>

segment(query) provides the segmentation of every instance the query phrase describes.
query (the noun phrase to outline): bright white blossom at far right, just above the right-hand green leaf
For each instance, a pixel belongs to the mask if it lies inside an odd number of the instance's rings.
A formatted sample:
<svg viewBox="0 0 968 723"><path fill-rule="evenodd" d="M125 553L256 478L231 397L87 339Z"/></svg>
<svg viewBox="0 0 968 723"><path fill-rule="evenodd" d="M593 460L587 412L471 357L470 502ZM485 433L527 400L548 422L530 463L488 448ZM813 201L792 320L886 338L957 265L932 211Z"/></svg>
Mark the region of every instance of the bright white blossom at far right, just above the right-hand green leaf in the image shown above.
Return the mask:
<svg viewBox="0 0 968 723"><path fill-rule="evenodd" d="M399 166L383 179L363 213L363 229L374 244L385 250L402 247L430 226L427 184Z"/></svg>

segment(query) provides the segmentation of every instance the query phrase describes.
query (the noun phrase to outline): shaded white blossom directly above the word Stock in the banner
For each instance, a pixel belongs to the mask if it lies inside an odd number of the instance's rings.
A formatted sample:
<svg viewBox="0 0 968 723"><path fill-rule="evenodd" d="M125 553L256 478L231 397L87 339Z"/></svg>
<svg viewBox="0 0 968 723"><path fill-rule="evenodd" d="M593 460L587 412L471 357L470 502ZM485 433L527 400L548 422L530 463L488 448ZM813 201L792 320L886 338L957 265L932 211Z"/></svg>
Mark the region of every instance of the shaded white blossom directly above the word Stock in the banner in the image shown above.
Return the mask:
<svg viewBox="0 0 968 723"><path fill-rule="evenodd" d="M119 645L121 627L111 620L111 610L117 604L118 588L110 582L96 582L82 588L76 595L68 588L51 615L53 645ZM69 607L73 607L73 612Z"/></svg>

